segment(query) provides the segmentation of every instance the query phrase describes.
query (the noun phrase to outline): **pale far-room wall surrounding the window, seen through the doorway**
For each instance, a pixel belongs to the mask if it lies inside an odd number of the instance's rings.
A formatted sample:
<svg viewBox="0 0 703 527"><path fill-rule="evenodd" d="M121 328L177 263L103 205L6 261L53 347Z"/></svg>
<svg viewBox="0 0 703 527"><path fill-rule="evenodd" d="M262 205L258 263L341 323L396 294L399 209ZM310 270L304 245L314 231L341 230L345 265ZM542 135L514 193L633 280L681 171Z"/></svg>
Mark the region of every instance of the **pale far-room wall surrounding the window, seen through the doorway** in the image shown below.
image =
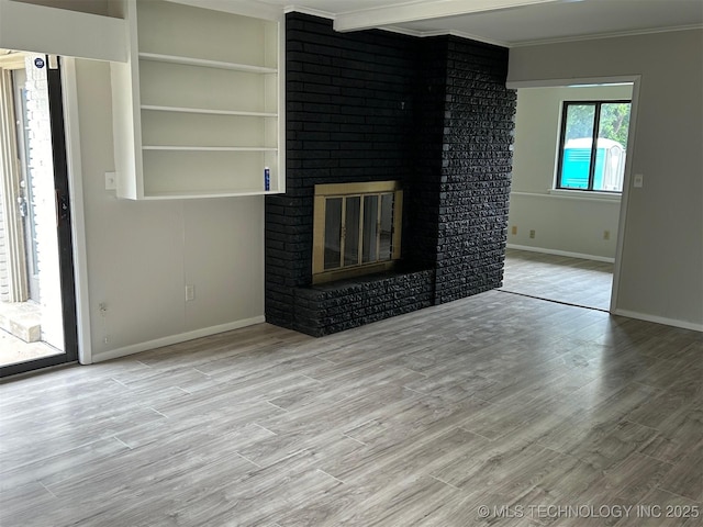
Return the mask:
<svg viewBox="0 0 703 527"><path fill-rule="evenodd" d="M517 90L507 239L511 246L615 258L620 199L549 191L555 181L562 102L631 97L632 86ZM513 227L516 234L512 234ZM535 231L534 238L529 237L531 231ZM610 239L604 239L606 231Z"/></svg>

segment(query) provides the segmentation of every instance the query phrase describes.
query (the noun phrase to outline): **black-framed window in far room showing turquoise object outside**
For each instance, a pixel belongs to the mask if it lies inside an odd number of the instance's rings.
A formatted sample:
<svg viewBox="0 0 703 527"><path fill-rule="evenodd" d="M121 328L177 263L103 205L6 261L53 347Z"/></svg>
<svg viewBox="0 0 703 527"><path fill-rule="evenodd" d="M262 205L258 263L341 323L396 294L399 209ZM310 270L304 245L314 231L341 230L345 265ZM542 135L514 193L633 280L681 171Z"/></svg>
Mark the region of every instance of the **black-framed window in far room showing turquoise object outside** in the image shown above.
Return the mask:
<svg viewBox="0 0 703 527"><path fill-rule="evenodd" d="M622 192L631 101L563 103L557 189Z"/></svg>

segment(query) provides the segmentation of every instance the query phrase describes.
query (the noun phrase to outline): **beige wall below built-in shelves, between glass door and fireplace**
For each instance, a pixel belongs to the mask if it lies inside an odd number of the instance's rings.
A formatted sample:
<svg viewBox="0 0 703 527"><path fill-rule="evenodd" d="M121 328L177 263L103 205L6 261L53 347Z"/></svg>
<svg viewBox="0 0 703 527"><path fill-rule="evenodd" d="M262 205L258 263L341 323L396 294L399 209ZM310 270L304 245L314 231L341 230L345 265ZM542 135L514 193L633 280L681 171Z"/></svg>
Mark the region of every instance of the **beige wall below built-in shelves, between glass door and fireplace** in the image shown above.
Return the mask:
<svg viewBox="0 0 703 527"><path fill-rule="evenodd" d="M93 360L263 321L263 198L118 200L110 66L77 60L76 77Z"/></svg>

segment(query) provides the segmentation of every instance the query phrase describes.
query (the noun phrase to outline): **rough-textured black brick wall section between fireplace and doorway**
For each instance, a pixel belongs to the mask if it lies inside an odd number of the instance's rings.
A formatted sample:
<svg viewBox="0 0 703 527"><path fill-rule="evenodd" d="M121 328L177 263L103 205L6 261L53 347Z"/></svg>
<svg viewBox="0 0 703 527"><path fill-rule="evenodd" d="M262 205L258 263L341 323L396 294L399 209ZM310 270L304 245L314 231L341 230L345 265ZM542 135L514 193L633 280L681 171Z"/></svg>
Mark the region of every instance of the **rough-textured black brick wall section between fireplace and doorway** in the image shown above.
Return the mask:
<svg viewBox="0 0 703 527"><path fill-rule="evenodd" d="M507 49L447 37L435 303L499 288L516 92Z"/></svg>

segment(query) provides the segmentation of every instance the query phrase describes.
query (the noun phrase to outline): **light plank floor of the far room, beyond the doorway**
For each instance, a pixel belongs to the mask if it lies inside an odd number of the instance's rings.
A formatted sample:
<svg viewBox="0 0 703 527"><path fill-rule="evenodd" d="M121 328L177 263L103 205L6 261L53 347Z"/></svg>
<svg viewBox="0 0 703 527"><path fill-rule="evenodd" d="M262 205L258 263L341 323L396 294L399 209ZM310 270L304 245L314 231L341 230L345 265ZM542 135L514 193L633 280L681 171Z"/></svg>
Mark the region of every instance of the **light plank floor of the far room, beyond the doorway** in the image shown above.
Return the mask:
<svg viewBox="0 0 703 527"><path fill-rule="evenodd" d="M610 311L613 265L506 249L503 291Z"/></svg>

